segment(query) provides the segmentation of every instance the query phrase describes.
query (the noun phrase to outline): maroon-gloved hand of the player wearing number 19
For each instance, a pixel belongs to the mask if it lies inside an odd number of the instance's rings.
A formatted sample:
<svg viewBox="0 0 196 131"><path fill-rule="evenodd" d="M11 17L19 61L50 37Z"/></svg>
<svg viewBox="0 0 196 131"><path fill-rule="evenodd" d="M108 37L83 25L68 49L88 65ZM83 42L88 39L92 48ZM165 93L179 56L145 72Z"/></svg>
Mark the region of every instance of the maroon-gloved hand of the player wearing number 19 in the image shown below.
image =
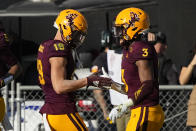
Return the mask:
<svg viewBox="0 0 196 131"><path fill-rule="evenodd" d="M112 79L92 74L87 77L87 86L105 88L112 85Z"/></svg>

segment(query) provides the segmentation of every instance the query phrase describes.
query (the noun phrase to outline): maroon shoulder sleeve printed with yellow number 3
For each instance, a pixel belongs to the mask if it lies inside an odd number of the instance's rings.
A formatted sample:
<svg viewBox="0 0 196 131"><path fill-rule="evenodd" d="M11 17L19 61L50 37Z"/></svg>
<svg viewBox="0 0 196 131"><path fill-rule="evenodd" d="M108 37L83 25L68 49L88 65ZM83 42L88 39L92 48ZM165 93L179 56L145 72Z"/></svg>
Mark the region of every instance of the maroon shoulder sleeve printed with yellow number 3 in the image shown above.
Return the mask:
<svg viewBox="0 0 196 131"><path fill-rule="evenodd" d="M132 47L132 51L133 59L135 61L152 59L154 55L152 46L148 45L147 43L135 43L135 45Z"/></svg>

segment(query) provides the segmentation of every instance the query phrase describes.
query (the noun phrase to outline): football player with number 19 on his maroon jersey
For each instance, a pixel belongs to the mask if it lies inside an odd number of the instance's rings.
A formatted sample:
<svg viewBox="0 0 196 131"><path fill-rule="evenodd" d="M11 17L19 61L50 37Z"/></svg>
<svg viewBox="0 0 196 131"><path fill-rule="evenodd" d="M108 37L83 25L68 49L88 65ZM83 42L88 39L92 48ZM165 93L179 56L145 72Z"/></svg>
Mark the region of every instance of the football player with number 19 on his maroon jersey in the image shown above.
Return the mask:
<svg viewBox="0 0 196 131"><path fill-rule="evenodd" d="M73 91L84 86L110 86L112 81L96 74L72 80L72 50L83 43L87 34L87 22L80 12L73 9L61 11L54 26L58 29L54 40L41 43L38 49L39 83L45 94L40 113L46 131L86 131L87 127L76 110Z"/></svg>

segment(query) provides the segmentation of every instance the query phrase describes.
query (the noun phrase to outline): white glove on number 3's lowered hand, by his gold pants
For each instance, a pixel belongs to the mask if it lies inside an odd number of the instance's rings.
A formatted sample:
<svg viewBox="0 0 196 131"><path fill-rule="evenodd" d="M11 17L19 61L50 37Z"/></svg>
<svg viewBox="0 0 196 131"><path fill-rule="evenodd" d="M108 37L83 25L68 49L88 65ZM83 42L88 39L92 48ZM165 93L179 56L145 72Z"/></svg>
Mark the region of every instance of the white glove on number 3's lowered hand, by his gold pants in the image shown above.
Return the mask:
<svg viewBox="0 0 196 131"><path fill-rule="evenodd" d="M114 123L115 120L120 118L131 106L133 106L133 100L129 98L125 103L120 104L111 110L109 119Z"/></svg>

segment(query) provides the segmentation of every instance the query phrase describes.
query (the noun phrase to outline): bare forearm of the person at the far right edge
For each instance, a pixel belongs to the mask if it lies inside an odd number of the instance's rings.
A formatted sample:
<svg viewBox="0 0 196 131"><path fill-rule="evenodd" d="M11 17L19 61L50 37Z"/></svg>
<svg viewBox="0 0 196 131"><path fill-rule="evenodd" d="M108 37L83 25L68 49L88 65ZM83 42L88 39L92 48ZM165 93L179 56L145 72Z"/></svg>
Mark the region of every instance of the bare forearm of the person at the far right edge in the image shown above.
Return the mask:
<svg viewBox="0 0 196 131"><path fill-rule="evenodd" d="M179 76L179 82L181 85L185 85L186 83L188 83L188 81L191 78L193 68L194 66L191 64L189 64L188 67L182 67L182 70Z"/></svg>

